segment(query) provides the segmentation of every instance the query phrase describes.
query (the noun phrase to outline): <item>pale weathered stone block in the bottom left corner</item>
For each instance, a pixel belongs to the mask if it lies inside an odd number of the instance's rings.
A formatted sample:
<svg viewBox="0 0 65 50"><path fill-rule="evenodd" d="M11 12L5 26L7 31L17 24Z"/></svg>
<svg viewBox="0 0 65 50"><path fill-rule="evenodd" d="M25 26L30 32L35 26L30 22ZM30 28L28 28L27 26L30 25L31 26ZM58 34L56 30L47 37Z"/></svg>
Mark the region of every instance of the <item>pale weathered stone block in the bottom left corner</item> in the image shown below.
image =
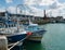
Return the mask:
<svg viewBox="0 0 65 50"><path fill-rule="evenodd" d="M0 36L0 50L8 50L8 39L5 36Z"/></svg>

